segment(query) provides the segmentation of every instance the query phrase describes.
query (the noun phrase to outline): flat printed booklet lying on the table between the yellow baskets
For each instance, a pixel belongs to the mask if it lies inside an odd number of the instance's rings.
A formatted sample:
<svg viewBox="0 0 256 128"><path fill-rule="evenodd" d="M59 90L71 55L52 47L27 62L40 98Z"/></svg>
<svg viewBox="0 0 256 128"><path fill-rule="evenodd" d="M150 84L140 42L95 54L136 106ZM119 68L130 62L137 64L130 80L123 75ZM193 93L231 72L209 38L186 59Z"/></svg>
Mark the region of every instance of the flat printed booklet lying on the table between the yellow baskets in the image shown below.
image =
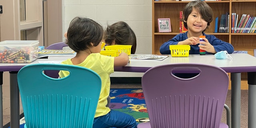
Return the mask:
<svg viewBox="0 0 256 128"><path fill-rule="evenodd" d="M130 54L130 60L164 60L168 55Z"/></svg>

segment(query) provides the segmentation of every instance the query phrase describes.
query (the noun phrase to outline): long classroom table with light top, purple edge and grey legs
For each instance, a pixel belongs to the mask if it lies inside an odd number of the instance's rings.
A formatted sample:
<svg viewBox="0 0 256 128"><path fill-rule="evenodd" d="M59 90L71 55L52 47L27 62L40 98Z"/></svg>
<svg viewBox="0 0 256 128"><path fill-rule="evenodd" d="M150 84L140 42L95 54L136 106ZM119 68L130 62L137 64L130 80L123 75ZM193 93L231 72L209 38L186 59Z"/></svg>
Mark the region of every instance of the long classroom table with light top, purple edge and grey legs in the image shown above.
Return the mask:
<svg viewBox="0 0 256 128"><path fill-rule="evenodd" d="M256 58L249 54L230 54L233 60L215 59L214 55L189 55L189 57L168 57L162 61L130 60L130 64L115 67L115 72L146 72L148 69L162 64L200 63L214 65L231 73L231 126L240 128L241 116L241 72L248 72L248 128L256 127ZM54 59L62 60L62 59ZM17 73L25 65L37 64L38 61L52 61L51 59L37 59L31 63L0 64L0 72L10 73L10 126L19 127L19 90Z"/></svg>

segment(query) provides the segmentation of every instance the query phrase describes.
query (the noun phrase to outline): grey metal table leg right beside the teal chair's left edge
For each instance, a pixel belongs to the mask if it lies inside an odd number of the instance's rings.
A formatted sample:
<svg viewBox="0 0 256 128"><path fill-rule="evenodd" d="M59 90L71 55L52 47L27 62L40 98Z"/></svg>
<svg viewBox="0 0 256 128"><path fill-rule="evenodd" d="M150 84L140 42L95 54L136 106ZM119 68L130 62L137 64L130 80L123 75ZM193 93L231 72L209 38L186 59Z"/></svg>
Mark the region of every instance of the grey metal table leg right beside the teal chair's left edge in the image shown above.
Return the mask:
<svg viewBox="0 0 256 128"><path fill-rule="evenodd" d="M20 95L17 82L18 72L10 73L10 127L20 128Z"/></svg>

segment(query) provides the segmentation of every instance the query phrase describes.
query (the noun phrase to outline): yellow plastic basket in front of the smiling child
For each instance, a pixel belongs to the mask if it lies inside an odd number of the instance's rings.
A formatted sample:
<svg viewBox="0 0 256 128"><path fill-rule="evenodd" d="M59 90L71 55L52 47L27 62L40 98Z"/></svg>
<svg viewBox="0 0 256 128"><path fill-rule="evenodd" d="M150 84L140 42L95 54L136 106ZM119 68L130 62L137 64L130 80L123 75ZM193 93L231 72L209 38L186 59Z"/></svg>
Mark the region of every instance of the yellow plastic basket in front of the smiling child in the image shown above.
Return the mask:
<svg viewBox="0 0 256 128"><path fill-rule="evenodd" d="M190 46L189 45L170 45L172 57L188 57Z"/></svg>

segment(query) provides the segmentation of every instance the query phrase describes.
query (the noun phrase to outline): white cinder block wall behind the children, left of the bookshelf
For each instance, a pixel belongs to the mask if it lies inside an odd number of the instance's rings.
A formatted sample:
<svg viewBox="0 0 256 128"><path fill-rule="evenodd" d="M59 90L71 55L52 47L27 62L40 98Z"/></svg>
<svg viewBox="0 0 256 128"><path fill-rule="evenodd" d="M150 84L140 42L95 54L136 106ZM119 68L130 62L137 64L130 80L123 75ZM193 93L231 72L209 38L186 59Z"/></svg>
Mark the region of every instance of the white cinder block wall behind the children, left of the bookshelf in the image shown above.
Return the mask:
<svg viewBox="0 0 256 128"><path fill-rule="evenodd" d="M136 54L152 54L152 0L63 0L62 3L63 34L75 16L95 20L104 28L124 21L136 34ZM115 72L111 76L136 77L142 73Z"/></svg>

